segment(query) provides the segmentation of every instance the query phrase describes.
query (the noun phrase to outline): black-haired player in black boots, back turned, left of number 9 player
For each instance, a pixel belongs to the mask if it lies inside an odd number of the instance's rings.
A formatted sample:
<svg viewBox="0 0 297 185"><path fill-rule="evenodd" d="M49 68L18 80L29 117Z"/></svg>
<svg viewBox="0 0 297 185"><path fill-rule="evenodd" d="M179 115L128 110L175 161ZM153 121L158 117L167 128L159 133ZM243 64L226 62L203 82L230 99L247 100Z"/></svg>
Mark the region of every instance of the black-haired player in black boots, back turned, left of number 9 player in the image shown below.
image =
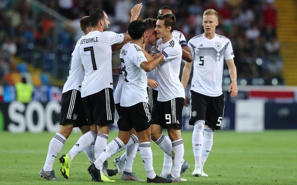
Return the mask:
<svg viewBox="0 0 297 185"><path fill-rule="evenodd" d="M104 152L92 164L88 171L97 181L103 162L126 144L135 129L139 139L140 156L146 170L147 183L170 183L154 172L151 152L151 114L149 110L148 95L146 92L146 72L151 71L162 61L162 54L156 55L149 62L141 51L144 43L146 23L135 20L128 26L128 33L132 38L125 44L120 53L124 85L121 93L121 117L118 121L119 135L113 139ZM101 174L101 176L104 174Z"/></svg>

